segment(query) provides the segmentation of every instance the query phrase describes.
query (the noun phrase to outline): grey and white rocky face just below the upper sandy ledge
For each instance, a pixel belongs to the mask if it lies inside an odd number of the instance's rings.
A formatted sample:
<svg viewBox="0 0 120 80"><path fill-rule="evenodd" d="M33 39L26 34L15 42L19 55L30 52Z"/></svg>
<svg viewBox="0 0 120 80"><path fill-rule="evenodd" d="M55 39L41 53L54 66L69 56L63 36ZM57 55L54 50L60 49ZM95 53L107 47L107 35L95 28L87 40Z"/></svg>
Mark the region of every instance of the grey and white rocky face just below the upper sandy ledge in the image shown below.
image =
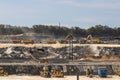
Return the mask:
<svg viewBox="0 0 120 80"><path fill-rule="evenodd" d="M75 47L21 47L11 46L0 48L0 58L34 58L34 59L81 59L85 57L111 56L120 57L120 48L91 47L91 46L75 46Z"/></svg>

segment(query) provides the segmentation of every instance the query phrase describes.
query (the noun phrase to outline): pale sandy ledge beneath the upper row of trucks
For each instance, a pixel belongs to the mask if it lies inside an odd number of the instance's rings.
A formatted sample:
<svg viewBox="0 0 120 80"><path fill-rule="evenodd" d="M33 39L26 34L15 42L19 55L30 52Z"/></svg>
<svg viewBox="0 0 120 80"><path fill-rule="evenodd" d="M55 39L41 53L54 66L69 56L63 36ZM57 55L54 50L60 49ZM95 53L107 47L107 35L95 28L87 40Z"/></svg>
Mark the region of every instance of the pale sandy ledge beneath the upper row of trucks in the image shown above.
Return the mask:
<svg viewBox="0 0 120 80"><path fill-rule="evenodd" d="M46 46L51 46L54 48L60 48L60 47L65 47L65 46L70 46L70 44L2 44L0 43L0 48L2 47L9 47L9 46L25 46L25 47L34 47L34 46L41 46L41 47L46 47ZM99 46L99 47L120 47L120 44L73 44L73 46Z"/></svg>

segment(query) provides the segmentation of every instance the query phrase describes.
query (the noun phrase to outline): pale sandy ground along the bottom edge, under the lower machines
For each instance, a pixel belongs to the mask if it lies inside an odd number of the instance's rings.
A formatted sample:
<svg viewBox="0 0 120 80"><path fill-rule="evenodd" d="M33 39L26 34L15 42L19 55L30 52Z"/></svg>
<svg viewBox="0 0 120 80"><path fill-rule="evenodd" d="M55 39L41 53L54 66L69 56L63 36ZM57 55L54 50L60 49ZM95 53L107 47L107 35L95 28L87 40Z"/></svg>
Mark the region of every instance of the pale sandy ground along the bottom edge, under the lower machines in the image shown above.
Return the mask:
<svg viewBox="0 0 120 80"><path fill-rule="evenodd" d="M64 78L43 78L40 76L0 76L0 80L77 80L76 76L65 76ZM79 76L79 80L120 80L119 76L108 76L107 78L100 78L99 76L94 76L89 78L86 76Z"/></svg>

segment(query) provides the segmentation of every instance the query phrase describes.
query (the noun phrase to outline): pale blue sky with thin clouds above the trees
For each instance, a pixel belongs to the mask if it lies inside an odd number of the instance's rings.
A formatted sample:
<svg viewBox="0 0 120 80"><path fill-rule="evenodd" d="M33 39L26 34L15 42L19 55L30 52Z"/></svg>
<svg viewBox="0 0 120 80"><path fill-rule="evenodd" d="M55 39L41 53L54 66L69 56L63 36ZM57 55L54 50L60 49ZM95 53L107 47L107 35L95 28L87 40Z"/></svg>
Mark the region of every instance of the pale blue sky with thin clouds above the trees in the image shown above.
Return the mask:
<svg viewBox="0 0 120 80"><path fill-rule="evenodd" d="M0 24L120 27L120 0L0 0Z"/></svg>

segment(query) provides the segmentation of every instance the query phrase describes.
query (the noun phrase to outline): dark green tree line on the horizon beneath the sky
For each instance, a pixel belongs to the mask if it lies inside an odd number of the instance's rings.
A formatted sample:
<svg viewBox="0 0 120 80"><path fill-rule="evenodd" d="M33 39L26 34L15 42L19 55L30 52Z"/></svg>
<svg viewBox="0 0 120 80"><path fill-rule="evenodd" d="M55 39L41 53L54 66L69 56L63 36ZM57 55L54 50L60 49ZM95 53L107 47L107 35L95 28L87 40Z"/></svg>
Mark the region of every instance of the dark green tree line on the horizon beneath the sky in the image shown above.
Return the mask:
<svg viewBox="0 0 120 80"><path fill-rule="evenodd" d="M33 25L32 27L22 27L0 24L0 35L16 35L26 32L49 34L56 38L66 36L69 33L72 33L74 37L85 37L88 34L95 37L119 37L120 27L112 28L106 25L95 25L88 29L82 29L78 26L71 28L57 25Z"/></svg>

